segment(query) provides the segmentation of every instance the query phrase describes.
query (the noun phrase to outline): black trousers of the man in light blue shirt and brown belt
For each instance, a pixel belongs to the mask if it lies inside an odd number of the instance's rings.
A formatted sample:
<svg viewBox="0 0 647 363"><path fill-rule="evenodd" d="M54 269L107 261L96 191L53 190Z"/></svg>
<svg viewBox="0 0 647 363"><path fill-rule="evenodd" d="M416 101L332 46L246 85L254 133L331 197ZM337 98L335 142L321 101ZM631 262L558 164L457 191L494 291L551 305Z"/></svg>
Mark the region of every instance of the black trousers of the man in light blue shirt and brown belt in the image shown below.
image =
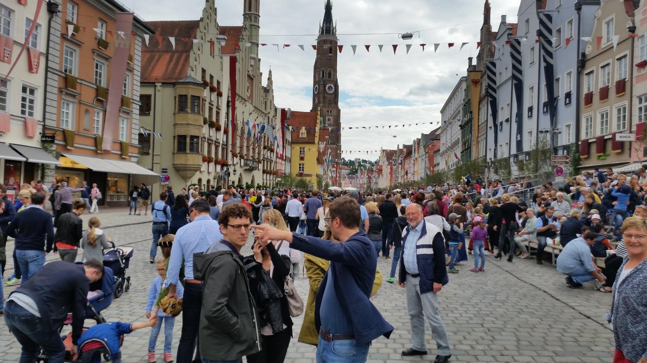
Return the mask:
<svg viewBox="0 0 647 363"><path fill-rule="evenodd" d="M203 289L201 284L184 283L182 298L182 335L177 346L177 363L201 362L198 342ZM197 349L196 349L197 348ZM195 353L195 359L193 352Z"/></svg>

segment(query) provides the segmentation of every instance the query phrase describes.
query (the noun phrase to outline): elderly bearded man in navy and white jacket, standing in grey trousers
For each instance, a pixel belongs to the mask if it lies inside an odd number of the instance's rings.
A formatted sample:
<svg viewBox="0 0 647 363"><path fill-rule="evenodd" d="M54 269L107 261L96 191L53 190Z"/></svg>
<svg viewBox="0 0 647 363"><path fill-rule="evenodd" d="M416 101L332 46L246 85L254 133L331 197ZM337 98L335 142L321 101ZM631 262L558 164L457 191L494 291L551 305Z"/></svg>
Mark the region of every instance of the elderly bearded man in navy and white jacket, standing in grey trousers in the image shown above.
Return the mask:
<svg viewBox="0 0 647 363"><path fill-rule="evenodd" d="M452 357L443 319L438 311L437 293L449 282L445 267L443 233L432 223L424 222L422 207L411 203L406 207L409 225L402 231L400 286L406 287L406 300L411 321L411 347L402 355L426 355L424 318L432 328L437 355L434 363L446 363Z"/></svg>

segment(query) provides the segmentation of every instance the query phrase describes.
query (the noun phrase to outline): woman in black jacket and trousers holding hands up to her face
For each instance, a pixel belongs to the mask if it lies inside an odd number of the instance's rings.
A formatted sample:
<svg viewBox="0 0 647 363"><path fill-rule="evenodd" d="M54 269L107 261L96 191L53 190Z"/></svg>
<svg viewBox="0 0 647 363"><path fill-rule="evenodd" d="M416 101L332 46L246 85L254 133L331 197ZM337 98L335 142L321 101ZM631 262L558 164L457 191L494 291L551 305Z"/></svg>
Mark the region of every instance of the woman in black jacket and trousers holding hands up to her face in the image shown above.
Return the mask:
<svg viewBox="0 0 647 363"><path fill-rule="evenodd" d="M254 240L254 256L245 258L245 269L250 291L259 309L263 350L248 355L247 362L282 363L292 338L292 318L287 298L283 293L285 278L290 275L292 265L290 247L285 241L272 241L262 247L258 237Z"/></svg>

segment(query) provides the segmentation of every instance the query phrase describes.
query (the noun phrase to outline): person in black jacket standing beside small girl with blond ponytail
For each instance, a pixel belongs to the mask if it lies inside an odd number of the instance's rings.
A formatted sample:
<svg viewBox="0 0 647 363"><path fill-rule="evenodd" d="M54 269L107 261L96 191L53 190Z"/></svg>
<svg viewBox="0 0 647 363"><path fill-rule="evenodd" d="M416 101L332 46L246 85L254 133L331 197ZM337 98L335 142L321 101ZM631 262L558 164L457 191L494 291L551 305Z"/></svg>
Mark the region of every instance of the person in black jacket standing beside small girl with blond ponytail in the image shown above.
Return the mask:
<svg viewBox="0 0 647 363"><path fill-rule="evenodd" d="M80 199L72 203L72 211L58 219L54 234L54 253L58 252L61 260L76 261L81 238L83 238L83 220L80 215L87 210L87 204Z"/></svg>

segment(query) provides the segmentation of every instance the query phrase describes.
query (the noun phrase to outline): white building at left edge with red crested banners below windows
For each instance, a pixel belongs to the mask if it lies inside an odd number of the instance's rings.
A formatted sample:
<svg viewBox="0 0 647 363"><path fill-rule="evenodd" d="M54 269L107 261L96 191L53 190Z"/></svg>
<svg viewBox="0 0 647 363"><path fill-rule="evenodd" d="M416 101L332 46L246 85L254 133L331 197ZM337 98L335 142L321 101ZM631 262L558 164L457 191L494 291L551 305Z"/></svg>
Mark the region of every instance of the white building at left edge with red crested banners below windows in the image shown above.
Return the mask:
<svg viewBox="0 0 647 363"><path fill-rule="evenodd" d="M36 1L0 3L0 182L8 194L21 183L43 178L45 165L59 162L41 147L48 7L25 39L36 13ZM20 59L17 56L27 42ZM17 63L16 63L17 61ZM12 64L16 67L5 80Z"/></svg>

